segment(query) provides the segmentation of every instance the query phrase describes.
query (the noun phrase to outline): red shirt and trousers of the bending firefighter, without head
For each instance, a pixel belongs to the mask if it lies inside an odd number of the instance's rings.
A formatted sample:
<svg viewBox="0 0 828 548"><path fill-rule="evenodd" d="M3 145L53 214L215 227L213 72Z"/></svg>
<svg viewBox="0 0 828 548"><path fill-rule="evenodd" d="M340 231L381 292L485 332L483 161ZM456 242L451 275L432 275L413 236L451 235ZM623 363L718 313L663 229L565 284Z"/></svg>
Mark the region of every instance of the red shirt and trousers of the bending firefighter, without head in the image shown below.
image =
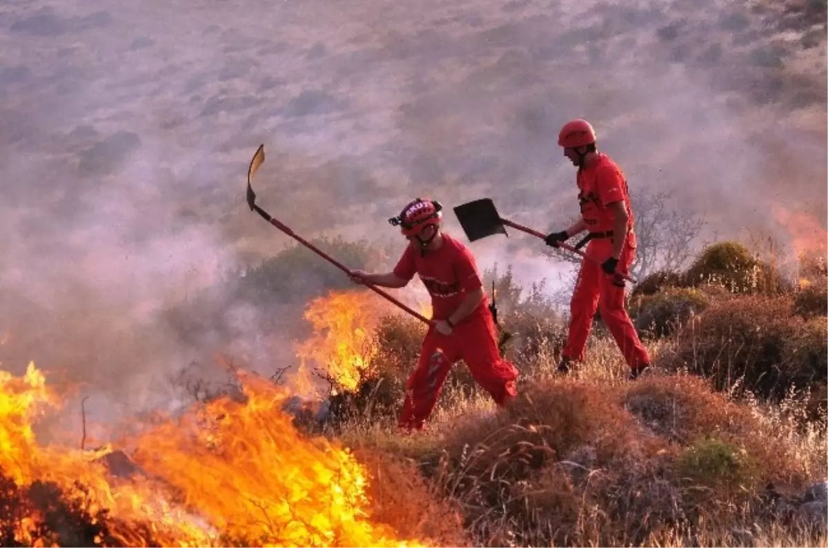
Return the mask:
<svg viewBox="0 0 828 548"><path fill-rule="evenodd" d="M425 255L409 245L393 272L408 281L415 274L420 276L431 295L434 320L448 318L469 291L483 286L469 248L445 233L440 248ZM423 428L434 410L445 377L460 359L498 406L517 395L517 369L500 356L497 327L486 296L474 312L455 325L449 336L437 333L433 326L429 328L416 369L406 382L406 398L398 421L400 428Z"/></svg>

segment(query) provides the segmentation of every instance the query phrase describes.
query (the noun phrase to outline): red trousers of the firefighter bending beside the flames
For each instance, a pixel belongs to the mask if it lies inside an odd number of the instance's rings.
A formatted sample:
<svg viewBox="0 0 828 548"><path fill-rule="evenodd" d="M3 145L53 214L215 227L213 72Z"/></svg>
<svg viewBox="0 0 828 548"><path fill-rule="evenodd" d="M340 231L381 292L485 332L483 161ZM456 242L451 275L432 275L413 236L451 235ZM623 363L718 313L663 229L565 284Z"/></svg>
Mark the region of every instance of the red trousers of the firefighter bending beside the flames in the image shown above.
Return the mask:
<svg viewBox="0 0 828 548"><path fill-rule="evenodd" d="M406 398L398 425L421 430L437 403L451 366L462 359L474 380L504 406L517 395L517 369L501 358L497 326L485 304L455 325L449 336L431 327L422 341L420 359L406 382Z"/></svg>

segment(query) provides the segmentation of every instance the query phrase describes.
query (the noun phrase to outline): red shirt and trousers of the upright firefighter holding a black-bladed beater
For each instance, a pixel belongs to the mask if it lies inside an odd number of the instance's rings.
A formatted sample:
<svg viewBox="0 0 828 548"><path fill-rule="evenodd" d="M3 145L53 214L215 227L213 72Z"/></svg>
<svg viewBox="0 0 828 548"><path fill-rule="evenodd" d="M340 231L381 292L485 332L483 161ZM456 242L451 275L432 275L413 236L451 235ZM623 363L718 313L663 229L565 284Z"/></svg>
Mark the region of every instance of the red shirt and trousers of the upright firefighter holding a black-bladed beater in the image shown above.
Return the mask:
<svg viewBox="0 0 828 548"><path fill-rule="evenodd" d="M638 340L638 333L624 306L626 285L617 276L609 276L599 264L613 252L614 214L608 206L619 200L623 200L627 207L628 226L631 228L616 272L628 273L630 263L633 262L637 242L632 230L634 217L627 180L621 168L609 156L601 153L593 166L578 171L577 183L581 217L593 237L585 252L598 259L598 262L587 260L581 263L570 302L569 337L561 357L578 362L584 360L586 339L590 336L593 317L595 311L600 310L601 319L607 324L629 368L638 371L650 363L650 357Z"/></svg>

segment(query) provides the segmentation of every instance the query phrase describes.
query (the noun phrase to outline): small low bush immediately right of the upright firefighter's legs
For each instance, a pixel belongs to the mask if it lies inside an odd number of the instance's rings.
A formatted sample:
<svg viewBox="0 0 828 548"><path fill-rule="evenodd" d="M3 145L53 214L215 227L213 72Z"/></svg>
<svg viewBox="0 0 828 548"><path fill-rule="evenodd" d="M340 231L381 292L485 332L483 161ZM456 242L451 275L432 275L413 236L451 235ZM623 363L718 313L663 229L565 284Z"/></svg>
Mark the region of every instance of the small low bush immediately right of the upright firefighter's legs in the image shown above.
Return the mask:
<svg viewBox="0 0 828 548"><path fill-rule="evenodd" d="M678 288L639 297L629 310L635 328L641 334L661 338L673 334L708 305L707 296L698 289Z"/></svg>

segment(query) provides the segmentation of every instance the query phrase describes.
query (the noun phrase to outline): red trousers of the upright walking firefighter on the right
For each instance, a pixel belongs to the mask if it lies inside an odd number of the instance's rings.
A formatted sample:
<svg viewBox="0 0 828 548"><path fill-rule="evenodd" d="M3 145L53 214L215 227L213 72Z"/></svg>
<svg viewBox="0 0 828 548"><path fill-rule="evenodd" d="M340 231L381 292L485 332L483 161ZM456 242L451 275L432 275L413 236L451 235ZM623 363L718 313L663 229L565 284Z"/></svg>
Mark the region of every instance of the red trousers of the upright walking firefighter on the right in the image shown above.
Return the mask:
<svg viewBox="0 0 828 548"><path fill-rule="evenodd" d="M590 240L585 252L590 257L603 262L612 255L612 240L610 238ZM627 273L634 256L635 248L629 244L625 245L616 272ZM614 276L609 276L604 272L599 262L590 260L581 262L578 281L570 302L569 338L566 341L566 347L561 352L561 357L577 362L584 361L586 339L590 337L595 311L600 310L601 319L607 324L627 365L633 371L638 370L650 363L650 356L638 340L638 333L624 307L627 286L623 280L616 281Z"/></svg>

